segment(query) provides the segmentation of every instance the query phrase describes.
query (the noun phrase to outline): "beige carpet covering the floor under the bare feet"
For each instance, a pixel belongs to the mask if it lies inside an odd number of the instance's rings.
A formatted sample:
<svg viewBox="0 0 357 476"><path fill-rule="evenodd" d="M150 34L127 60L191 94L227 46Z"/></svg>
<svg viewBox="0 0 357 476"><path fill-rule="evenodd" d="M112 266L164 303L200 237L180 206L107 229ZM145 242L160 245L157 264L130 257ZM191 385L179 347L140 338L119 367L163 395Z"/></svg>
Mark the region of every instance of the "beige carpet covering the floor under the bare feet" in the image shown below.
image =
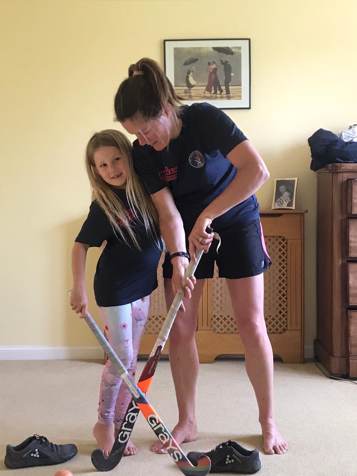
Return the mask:
<svg viewBox="0 0 357 476"><path fill-rule="evenodd" d="M139 362L138 375L144 362ZM258 447L261 476L357 476L357 386L328 379L314 364L275 364L277 422L290 449L283 456L261 453L257 406L244 362L220 360L200 366L197 392L199 439L183 449L209 450L227 439ZM75 476L99 474L90 454L96 447L100 363L81 361L0 362L0 476L52 476L69 469ZM177 420L169 363L162 361L148 393L164 423ZM16 445L34 433L54 443L75 443L78 455L68 463L43 468L7 469L7 443ZM181 474L168 455L149 451L155 435L140 415L133 440L136 456L124 457L103 475L174 476Z"/></svg>

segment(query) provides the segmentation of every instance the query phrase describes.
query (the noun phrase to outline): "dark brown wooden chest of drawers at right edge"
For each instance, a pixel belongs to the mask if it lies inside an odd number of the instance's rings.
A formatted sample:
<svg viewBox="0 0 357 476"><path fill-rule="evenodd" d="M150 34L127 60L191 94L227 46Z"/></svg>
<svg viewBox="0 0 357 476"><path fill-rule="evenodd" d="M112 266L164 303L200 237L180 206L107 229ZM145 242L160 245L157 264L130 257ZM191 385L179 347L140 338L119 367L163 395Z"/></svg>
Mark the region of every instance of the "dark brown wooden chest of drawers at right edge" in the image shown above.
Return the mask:
<svg viewBox="0 0 357 476"><path fill-rule="evenodd" d="M317 171L317 339L327 371L357 377L357 164Z"/></svg>

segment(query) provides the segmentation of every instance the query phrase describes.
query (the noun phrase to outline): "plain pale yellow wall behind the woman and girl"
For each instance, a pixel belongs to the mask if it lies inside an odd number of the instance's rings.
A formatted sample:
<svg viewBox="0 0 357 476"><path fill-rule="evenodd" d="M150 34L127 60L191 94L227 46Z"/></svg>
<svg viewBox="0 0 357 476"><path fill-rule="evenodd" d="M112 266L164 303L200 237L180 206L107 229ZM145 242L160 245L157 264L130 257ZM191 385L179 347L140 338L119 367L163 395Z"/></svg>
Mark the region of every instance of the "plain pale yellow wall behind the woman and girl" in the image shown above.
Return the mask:
<svg viewBox="0 0 357 476"><path fill-rule="evenodd" d="M307 138L356 122L351 10L329 0L1 1L0 346L95 343L66 296L90 201L83 149L91 133L113 127L113 95L129 63L163 64L164 39L210 37L251 38L252 108L228 114L268 165L261 207L271 206L274 178L299 178L311 345L316 174ZM89 289L97 256L91 250ZM89 309L96 315L93 297Z"/></svg>

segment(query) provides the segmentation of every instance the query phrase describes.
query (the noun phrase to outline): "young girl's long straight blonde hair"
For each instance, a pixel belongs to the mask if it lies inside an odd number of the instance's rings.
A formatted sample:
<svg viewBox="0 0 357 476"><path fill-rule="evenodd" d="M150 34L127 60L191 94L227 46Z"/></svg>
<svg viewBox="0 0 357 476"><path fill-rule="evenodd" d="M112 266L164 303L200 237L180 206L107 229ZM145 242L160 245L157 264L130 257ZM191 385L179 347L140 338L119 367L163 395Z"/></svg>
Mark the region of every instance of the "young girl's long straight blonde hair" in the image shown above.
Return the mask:
<svg viewBox="0 0 357 476"><path fill-rule="evenodd" d="M124 159L128 164L128 175L126 183L126 194L129 202L129 207L136 213L141 215L141 222L144 225L149 237L158 243L160 241L159 235L159 218L158 212L155 208L153 199L149 194L148 189L141 182L141 179L136 175L133 166L133 158L131 154L132 144L125 137L124 134L114 129L106 129L96 132L89 139L86 148L85 162L89 178L90 188L92 190L92 199L96 200L99 206L107 215L114 233L118 238L121 238L127 245L130 246L128 238L124 231L127 231L129 238L134 246L138 249L140 244L135 233L135 225L130 225L128 220L127 209L123 206L121 200L114 192L114 188L109 185L99 175L95 162L94 153L99 147L116 147L123 154ZM119 222L122 226L119 225Z"/></svg>

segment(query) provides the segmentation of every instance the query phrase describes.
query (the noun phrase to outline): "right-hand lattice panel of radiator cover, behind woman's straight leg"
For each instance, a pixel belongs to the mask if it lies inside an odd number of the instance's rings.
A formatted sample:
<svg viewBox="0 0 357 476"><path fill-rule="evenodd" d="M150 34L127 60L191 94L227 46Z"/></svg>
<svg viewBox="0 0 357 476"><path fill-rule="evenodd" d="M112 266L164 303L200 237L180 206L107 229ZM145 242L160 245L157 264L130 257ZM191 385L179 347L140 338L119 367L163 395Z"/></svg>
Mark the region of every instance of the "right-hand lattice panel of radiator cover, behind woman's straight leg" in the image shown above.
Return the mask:
<svg viewBox="0 0 357 476"><path fill-rule="evenodd" d="M288 324L288 240L276 236L266 237L265 242L272 261L264 273L265 321L269 334L281 334ZM226 280L218 278L216 266L211 283L211 330L216 334L238 333Z"/></svg>

